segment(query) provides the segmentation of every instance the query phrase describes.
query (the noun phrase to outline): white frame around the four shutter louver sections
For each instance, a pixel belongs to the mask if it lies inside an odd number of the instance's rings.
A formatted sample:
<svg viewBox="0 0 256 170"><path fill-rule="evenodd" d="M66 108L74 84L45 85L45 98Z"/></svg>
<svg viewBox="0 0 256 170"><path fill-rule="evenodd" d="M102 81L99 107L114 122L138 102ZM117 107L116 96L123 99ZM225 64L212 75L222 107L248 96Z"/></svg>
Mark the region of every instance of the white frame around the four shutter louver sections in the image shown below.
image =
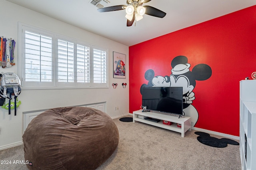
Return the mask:
<svg viewBox="0 0 256 170"><path fill-rule="evenodd" d="M24 23L18 24L19 44L18 67L22 89L66 89L66 88L109 88L109 57L108 48L100 47L85 41L70 38L58 33L40 29ZM38 33L52 37L52 82L26 82L25 81L25 31ZM74 82L58 82L58 39L74 43ZM90 82L77 82L77 45L89 47L90 49ZM93 74L93 49L100 49L106 52L106 82L94 83Z"/></svg>

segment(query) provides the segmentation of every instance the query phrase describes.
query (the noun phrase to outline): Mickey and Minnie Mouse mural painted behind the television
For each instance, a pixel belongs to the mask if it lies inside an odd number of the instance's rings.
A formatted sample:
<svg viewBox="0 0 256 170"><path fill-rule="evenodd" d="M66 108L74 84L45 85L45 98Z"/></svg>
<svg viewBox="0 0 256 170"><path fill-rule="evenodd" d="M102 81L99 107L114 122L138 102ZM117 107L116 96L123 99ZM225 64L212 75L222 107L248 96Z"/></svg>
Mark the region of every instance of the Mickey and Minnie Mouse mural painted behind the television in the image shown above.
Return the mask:
<svg viewBox="0 0 256 170"><path fill-rule="evenodd" d="M195 100L193 92L196 86L196 80L207 80L212 76L212 69L207 64L197 64L190 71L190 64L186 56L177 56L172 59L170 76L155 76L154 70L149 69L145 72L145 79L148 84L142 84L142 87L183 87L183 112L185 116L191 117L191 126L196 125L198 121L198 111L192 105Z"/></svg>

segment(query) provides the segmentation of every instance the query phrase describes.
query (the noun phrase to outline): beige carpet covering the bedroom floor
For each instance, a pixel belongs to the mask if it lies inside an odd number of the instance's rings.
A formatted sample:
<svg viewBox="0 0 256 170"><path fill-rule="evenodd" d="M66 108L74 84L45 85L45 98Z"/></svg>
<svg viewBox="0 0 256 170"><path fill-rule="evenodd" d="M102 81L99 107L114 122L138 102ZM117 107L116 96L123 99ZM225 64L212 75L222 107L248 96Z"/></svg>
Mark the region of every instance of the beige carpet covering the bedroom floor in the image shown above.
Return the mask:
<svg viewBox="0 0 256 170"><path fill-rule="evenodd" d="M239 145L214 148L199 143L194 130L182 138L180 133L140 122L114 122L120 135L118 148L97 170L241 170ZM0 150L0 160L25 162L23 145ZM26 170L26 165L0 164L0 170Z"/></svg>

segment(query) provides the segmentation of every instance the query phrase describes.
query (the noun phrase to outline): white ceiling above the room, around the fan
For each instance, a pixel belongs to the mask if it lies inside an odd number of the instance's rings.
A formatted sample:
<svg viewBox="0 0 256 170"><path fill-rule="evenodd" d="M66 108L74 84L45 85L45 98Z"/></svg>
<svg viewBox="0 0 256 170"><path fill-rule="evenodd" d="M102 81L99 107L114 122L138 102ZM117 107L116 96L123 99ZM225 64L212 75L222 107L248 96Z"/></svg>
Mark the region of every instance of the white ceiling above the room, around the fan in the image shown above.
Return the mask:
<svg viewBox="0 0 256 170"><path fill-rule="evenodd" d="M144 15L126 27L125 10L103 12L90 0L7 0L127 46L202 23L249 6L256 0L151 0L143 5L166 12L164 18ZM108 0L105 5L126 5L126 0Z"/></svg>

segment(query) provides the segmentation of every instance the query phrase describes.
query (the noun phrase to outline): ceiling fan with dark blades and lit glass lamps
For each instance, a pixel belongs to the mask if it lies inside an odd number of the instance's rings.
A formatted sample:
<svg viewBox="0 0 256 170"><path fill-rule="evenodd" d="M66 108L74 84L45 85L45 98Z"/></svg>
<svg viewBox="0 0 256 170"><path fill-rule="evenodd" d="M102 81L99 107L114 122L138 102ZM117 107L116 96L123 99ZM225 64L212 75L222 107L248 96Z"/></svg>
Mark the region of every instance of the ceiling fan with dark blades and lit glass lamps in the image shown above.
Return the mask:
<svg viewBox="0 0 256 170"><path fill-rule="evenodd" d="M110 12L118 10L126 10L127 26L132 26L134 20L139 21L143 18L144 14L164 18L165 12L158 10L152 6L142 6L143 3L150 2L151 0L126 0L127 5L116 5L105 8L99 8L98 12Z"/></svg>

